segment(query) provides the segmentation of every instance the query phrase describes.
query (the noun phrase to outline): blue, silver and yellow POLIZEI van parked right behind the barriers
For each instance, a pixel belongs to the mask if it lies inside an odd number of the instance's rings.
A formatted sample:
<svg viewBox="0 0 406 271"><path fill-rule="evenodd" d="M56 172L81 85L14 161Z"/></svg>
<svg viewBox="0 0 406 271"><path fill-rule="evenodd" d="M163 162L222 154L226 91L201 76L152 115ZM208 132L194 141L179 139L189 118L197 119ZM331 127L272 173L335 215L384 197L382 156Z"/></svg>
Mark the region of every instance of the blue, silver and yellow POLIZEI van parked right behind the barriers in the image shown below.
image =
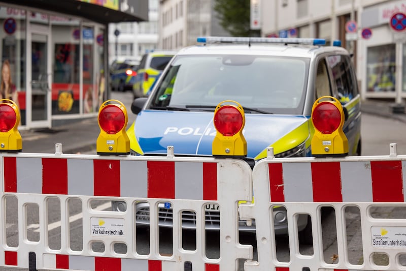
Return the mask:
<svg viewBox="0 0 406 271"><path fill-rule="evenodd" d="M300 38L197 41L199 45L173 57L148 98L134 100L131 110L137 118L127 130L132 154L166 155L172 145L178 156L211 156L214 109L233 100L245 111L243 134L252 165L266 157L267 147L274 148L275 157L311 156L311 110L323 96L333 96L343 105L349 155L361 154L357 78L351 55L339 41L333 43L338 46ZM215 207L208 208L207 217L212 218ZM284 212L283 207L274 210L276 234L287 233ZM299 231L306 225L306 218L299 220ZM240 230L254 226L240 224Z"/></svg>

